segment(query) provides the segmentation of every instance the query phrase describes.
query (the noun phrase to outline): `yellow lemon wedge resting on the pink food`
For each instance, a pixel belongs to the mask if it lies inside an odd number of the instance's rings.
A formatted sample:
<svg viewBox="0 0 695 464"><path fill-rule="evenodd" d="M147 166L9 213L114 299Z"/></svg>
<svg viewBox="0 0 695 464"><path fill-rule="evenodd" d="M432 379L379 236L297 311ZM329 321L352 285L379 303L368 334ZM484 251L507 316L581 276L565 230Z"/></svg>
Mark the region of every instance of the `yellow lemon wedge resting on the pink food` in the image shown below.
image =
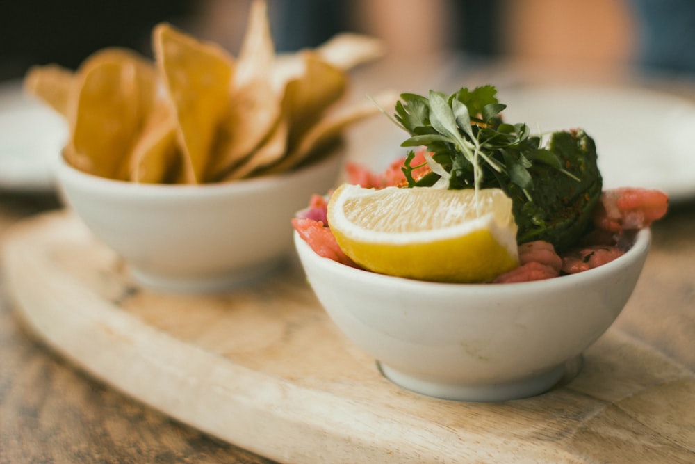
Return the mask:
<svg viewBox="0 0 695 464"><path fill-rule="evenodd" d="M500 189L363 189L331 195L328 223L369 271L435 282L486 282L518 266L512 200Z"/></svg>

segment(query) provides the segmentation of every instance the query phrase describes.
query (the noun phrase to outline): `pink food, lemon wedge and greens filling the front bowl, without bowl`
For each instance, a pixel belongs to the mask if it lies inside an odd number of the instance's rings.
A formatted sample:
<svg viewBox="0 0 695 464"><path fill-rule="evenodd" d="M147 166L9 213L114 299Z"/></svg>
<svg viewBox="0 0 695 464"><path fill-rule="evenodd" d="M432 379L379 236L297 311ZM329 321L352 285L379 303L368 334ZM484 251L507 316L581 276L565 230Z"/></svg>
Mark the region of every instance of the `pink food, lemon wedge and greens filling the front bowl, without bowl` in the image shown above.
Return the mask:
<svg viewBox="0 0 695 464"><path fill-rule="evenodd" d="M602 191L596 145L584 131L555 132L541 145L525 125L502 121L495 95L492 86L429 99L403 94L396 118L411 138L402 145L425 148L382 175L347 166L348 183L329 200L313 198L295 229L310 244L322 234L323 249L335 242L332 255L345 255L338 261L370 271L511 282L618 257L635 230L666 214L660 191ZM311 233L320 227L327 230Z"/></svg>

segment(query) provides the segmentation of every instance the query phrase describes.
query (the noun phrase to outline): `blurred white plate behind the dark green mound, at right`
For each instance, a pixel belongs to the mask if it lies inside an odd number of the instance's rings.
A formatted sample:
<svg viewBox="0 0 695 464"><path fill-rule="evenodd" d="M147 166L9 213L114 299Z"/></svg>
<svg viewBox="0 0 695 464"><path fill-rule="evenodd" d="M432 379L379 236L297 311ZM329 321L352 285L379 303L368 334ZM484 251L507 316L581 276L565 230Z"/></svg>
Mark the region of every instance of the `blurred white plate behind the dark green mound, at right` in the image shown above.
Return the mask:
<svg viewBox="0 0 695 464"><path fill-rule="evenodd" d="M596 141L604 186L660 189L695 198L695 104L635 88L500 90L507 122L532 132L581 127Z"/></svg>

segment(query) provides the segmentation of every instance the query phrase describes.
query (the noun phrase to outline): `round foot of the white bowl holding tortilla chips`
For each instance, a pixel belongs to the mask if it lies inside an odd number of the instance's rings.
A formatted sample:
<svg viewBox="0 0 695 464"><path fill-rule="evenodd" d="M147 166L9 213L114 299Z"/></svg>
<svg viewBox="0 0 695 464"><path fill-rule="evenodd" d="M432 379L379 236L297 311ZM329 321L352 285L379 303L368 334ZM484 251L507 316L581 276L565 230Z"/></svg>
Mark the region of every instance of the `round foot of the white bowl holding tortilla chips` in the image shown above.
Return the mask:
<svg viewBox="0 0 695 464"><path fill-rule="evenodd" d="M156 275L132 266L130 271L136 282L146 289L165 293L214 294L252 285L257 280L278 271L282 264L284 264L283 260L277 260L243 271L204 277Z"/></svg>

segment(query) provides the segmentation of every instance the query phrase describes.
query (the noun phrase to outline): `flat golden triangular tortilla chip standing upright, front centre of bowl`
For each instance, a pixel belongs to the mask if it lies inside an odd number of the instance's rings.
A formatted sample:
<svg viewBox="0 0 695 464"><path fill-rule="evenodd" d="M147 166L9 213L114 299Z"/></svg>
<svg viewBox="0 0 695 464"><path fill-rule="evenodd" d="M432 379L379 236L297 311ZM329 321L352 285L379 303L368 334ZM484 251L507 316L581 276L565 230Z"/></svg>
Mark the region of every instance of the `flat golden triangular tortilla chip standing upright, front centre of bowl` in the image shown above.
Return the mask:
<svg viewBox="0 0 695 464"><path fill-rule="evenodd" d="M158 24L156 62L177 119L187 182L204 182L218 125L227 112L234 59L222 47Z"/></svg>

